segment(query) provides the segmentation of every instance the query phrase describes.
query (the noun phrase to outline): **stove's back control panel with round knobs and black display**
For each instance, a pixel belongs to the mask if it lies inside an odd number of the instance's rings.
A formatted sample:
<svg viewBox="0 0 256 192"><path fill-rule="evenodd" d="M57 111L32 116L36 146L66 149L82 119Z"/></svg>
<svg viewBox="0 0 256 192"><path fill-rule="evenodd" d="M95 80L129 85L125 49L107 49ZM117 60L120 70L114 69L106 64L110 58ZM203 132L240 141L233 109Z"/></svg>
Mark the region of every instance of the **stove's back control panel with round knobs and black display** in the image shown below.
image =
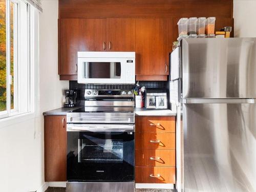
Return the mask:
<svg viewBox="0 0 256 192"><path fill-rule="evenodd" d="M133 90L84 90L84 98L88 97L134 97Z"/></svg>

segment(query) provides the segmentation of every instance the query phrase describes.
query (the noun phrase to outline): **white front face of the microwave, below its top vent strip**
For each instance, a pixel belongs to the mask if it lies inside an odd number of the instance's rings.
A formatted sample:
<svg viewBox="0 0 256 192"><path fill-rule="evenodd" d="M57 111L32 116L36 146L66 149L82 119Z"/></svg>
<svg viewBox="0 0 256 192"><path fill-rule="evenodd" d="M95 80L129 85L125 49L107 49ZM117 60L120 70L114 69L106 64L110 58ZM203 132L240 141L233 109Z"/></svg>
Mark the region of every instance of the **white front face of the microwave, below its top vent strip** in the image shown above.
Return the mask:
<svg viewBox="0 0 256 192"><path fill-rule="evenodd" d="M134 62L134 58L78 58L78 83L135 83Z"/></svg>

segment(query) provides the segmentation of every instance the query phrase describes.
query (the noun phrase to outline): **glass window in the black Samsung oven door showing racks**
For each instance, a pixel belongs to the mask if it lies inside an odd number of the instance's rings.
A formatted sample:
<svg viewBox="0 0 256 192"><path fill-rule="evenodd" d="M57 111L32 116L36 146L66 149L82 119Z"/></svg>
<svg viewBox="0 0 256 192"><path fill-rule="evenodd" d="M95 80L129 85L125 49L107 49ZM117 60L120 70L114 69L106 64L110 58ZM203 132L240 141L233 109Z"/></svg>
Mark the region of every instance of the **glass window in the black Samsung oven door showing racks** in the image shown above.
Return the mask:
<svg viewBox="0 0 256 192"><path fill-rule="evenodd" d="M123 140L87 136L78 139L78 162L123 162Z"/></svg>

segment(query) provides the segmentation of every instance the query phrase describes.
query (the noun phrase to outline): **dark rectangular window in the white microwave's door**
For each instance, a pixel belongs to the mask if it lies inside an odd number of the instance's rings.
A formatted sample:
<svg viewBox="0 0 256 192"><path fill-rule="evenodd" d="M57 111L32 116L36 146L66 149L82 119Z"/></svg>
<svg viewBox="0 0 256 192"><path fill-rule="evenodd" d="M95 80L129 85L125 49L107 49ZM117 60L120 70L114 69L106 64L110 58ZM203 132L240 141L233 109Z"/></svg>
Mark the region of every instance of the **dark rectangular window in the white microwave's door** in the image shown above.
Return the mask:
<svg viewBox="0 0 256 192"><path fill-rule="evenodd" d="M120 79L120 62L84 62L84 77Z"/></svg>

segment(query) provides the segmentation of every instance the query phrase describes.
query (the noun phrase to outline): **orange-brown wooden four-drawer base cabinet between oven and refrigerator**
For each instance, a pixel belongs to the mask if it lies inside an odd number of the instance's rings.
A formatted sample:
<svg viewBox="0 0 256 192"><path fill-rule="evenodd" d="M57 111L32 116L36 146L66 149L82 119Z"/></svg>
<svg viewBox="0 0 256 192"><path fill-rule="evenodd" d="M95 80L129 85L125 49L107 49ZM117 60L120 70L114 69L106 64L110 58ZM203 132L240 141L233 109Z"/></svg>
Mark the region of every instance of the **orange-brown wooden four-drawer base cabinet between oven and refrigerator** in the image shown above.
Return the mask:
<svg viewBox="0 0 256 192"><path fill-rule="evenodd" d="M135 117L135 182L175 184L175 116Z"/></svg>

